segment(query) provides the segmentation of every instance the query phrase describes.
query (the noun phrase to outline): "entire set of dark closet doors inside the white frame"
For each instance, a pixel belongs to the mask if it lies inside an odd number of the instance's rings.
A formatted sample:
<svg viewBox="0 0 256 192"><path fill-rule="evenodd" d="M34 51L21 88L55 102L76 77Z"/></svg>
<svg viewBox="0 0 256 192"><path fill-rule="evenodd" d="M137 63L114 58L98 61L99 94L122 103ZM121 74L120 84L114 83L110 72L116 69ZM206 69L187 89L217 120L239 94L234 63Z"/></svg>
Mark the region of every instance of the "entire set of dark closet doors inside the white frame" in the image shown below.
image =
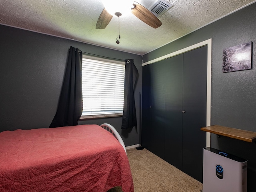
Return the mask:
<svg viewBox="0 0 256 192"><path fill-rule="evenodd" d="M207 46L143 67L142 146L202 182Z"/></svg>

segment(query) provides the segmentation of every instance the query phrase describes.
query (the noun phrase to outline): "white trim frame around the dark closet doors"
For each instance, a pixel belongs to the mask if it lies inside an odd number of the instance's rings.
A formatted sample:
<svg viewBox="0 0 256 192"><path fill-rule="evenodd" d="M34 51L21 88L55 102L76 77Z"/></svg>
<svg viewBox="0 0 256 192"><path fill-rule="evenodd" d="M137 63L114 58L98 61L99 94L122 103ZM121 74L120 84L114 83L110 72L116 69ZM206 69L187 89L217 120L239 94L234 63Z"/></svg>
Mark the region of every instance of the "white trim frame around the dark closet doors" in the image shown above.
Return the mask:
<svg viewBox="0 0 256 192"><path fill-rule="evenodd" d="M170 58L197 48L200 48L202 46L207 45L207 93L206 93L206 126L211 125L211 79L212 79L212 39L205 40L203 42L194 44L192 46L186 47L184 49L172 52L170 54L164 55L162 57L153 59L151 61L142 63L142 66L152 64L161 60L164 60L166 58ZM211 136L209 132L206 132L206 147L211 146Z"/></svg>

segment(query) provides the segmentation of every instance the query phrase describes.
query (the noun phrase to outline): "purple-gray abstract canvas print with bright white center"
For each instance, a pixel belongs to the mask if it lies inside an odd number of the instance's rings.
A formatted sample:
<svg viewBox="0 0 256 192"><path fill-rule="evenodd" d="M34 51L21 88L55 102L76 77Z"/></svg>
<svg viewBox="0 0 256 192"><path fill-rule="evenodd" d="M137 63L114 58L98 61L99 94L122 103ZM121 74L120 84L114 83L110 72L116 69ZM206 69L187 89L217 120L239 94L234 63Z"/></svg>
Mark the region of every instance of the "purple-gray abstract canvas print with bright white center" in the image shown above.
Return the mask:
<svg viewBox="0 0 256 192"><path fill-rule="evenodd" d="M252 42L223 50L222 72L247 70L252 68Z"/></svg>

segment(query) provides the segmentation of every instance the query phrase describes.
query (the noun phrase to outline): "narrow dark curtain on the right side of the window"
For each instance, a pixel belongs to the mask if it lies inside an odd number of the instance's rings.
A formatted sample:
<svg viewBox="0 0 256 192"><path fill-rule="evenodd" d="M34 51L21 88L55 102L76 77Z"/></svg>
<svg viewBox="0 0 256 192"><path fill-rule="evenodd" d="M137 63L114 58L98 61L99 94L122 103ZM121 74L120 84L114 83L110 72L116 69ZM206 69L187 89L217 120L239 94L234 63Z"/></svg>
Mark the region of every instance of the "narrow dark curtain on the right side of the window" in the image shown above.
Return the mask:
<svg viewBox="0 0 256 192"><path fill-rule="evenodd" d="M133 59L125 60L124 75L124 111L122 119L122 129L137 126L134 87L138 76L138 70L134 65Z"/></svg>

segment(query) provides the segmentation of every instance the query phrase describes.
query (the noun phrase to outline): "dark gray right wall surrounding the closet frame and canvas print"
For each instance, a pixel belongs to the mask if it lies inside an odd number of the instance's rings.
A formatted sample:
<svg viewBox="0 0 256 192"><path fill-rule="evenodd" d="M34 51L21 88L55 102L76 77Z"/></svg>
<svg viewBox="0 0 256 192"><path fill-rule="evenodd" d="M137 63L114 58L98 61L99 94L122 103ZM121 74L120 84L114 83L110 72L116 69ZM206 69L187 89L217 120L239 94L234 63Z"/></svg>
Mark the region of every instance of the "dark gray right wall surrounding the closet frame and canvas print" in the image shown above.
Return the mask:
<svg viewBox="0 0 256 192"><path fill-rule="evenodd" d="M256 3L144 55L143 61L212 38L211 124L256 132L255 12ZM246 42L253 42L252 70L222 73L223 49ZM211 147L248 160L248 192L255 192L256 144L211 134Z"/></svg>

